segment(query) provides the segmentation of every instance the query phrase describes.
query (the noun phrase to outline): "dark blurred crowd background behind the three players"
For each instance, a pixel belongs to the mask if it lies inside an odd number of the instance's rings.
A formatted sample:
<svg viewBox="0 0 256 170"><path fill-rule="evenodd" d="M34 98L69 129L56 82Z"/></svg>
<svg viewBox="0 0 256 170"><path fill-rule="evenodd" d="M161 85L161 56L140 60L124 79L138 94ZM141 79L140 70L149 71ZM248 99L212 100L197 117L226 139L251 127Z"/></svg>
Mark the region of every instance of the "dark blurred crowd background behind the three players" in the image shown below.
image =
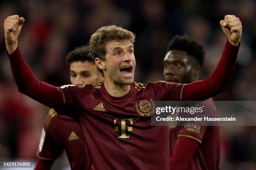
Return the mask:
<svg viewBox="0 0 256 170"><path fill-rule="evenodd" d="M86 45L101 26L115 24L136 33L136 82L164 80L166 46L187 34L205 47L201 79L220 59L226 37L219 22L240 18L243 35L230 88L215 100L256 100L256 1L254 0L1 0L0 22L25 18L19 46L39 80L69 84L65 56ZM36 161L44 117L49 108L18 92L0 27L0 160ZM256 169L256 128L221 127L221 169ZM59 165L68 165L67 160ZM59 166L56 165L56 166Z"/></svg>

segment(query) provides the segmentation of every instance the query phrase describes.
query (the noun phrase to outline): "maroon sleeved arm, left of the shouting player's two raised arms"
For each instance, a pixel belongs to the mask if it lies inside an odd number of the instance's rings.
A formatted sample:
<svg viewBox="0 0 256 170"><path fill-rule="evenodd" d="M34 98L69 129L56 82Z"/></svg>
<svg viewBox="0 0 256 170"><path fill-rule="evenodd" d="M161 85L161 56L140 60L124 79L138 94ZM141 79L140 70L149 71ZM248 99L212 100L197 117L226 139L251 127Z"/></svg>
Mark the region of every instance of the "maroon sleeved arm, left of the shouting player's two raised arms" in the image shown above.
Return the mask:
<svg viewBox="0 0 256 170"><path fill-rule="evenodd" d="M8 54L8 57L19 92L52 108L62 106L63 97L59 89L36 79L24 60L19 47L11 55Z"/></svg>

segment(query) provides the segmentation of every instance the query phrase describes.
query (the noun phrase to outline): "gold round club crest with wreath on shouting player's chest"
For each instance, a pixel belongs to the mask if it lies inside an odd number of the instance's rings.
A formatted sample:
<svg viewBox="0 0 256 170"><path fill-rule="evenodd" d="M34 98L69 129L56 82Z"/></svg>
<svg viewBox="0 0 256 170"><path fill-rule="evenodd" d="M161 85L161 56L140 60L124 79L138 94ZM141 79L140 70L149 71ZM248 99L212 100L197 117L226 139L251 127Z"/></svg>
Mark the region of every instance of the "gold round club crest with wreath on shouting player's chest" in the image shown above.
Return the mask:
<svg viewBox="0 0 256 170"><path fill-rule="evenodd" d="M151 116L151 114L156 110L154 101L149 98L148 100L142 100L139 104L136 102L135 107L139 115L141 116Z"/></svg>

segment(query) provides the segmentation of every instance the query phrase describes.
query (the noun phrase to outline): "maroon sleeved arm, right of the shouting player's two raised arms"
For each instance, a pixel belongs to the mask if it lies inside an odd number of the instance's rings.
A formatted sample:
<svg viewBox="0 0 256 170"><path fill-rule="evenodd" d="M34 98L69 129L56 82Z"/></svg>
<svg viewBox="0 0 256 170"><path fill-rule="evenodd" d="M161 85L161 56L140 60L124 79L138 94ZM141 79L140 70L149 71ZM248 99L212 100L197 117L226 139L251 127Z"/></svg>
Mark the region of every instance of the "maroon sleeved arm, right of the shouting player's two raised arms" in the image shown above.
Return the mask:
<svg viewBox="0 0 256 170"><path fill-rule="evenodd" d="M226 90L233 77L239 46L233 46L227 40L212 74L204 80L185 85L182 100L206 100Z"/></svg>

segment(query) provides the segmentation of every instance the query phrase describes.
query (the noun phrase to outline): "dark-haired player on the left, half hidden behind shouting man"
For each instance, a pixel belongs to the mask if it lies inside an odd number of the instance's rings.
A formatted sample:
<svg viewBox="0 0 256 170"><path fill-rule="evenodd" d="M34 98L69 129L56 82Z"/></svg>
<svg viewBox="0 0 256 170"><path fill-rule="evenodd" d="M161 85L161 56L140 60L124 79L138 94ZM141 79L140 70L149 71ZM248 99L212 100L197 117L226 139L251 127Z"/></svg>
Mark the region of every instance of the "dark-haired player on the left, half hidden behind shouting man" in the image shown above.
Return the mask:
<svg viewBox="0 0 256 170"><path fill-rule="evenodd" d="M102 74L97 70L93 58L89 55L89 47L77 47L66 57L70 69L70 82L73 85L84 83L97 85L103 80ZM54 109L48 112L44 120L36 155L38 162L35 170L51 169L54 160L66 150L72 170L85 169L87 163L84 150L82 130L74 119L65 115L57 115ZM77 156L79 155L79 156Z"/></svg>

